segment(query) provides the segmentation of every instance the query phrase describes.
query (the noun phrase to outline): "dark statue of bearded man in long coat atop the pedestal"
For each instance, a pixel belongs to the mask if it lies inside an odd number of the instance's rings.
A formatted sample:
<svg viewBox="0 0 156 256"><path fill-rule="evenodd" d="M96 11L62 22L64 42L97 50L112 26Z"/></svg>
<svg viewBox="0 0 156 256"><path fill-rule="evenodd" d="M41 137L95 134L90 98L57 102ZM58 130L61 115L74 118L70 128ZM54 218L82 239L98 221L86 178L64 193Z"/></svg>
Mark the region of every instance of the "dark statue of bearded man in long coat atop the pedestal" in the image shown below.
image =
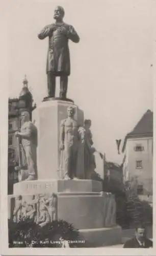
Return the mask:
<svg viewBox="0 0 156 256"><path fill-rule="evenodd" d="M38 34L39 39L49 37L47 54L48 97L55 97L56 76L60 77L60 98L66 99L68 76L70 75L70 56L68 40L79 42L80 38L71 25L63 22L64 9L57 6L54 11L55 23L45 26Z"/></svg>

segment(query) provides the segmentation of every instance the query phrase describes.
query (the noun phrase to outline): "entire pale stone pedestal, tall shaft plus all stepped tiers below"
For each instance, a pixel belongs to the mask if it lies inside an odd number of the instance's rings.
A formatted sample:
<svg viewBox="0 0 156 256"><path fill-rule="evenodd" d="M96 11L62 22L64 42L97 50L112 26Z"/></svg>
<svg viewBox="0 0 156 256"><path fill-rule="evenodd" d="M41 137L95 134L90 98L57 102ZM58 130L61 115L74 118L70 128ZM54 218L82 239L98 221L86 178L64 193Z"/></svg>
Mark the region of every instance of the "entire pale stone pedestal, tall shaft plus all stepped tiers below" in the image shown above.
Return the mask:
<svg viewBox="0 0 156 256"><path fill-rule="evenodd" d="M18 221L21 216L29 216L39 225L64 220L79 229L82 238L93 246L120 243L114 196L103 193L99 181L60 178L60 122L67 117L69 105L75 108L77 123L83 125L83 111L73 102L44 101L33 112L38 129L38 180L14 184L14 195L8 196L9 219ZM79 161L84 162L83 155ZM82 166L79 174L84 172Z"/></svg>

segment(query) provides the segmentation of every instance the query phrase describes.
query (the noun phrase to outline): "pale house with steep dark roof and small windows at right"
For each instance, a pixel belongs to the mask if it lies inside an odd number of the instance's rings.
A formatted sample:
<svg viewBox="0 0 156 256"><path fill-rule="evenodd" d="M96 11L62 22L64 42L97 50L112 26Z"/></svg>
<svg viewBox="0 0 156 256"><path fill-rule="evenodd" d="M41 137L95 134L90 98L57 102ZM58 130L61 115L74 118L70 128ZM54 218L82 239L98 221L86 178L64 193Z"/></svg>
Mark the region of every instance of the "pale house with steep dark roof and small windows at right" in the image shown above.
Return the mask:
<svg viewBox="0 0 156 256"><path fill-rule="evenodd" d="M152 195L153 113L148 110L124 139L123 182L131 183L139 195Z"/></svg>

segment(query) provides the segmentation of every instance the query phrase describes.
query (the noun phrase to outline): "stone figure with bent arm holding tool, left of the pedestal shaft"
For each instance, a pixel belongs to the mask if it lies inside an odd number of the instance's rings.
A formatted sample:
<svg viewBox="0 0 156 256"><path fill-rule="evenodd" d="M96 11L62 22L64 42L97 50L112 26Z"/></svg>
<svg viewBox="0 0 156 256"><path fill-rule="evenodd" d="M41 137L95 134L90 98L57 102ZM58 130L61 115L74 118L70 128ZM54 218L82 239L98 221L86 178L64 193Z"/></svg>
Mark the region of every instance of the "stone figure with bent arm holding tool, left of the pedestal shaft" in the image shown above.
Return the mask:
<svg viewBox="0 0 156 256"><path fill-rule="evenodd" d="M27 169L27 176L23 174L23 179L35 180L37 176L37 128L30 121L30 114L27 111L21 113L21 129L20 132L15 133L15 136L21 139L22 159L20 160L22 164L20 168Z"/></svg>

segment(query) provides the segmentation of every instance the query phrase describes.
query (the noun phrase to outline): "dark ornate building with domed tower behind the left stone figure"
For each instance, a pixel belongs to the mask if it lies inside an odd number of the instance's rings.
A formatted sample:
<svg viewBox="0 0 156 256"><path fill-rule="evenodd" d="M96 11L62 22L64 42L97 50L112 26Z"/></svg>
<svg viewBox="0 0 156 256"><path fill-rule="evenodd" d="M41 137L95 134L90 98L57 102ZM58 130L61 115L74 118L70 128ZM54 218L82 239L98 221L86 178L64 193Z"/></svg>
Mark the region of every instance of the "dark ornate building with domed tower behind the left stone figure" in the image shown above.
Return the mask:
<svg viewBox="0 0 156 256"><path fill-rule="evenodd" d="M23 87L18 98L9 98L8 101L8 194L13 193L13 184L18 182L18 172L15 166L18 166L19 147L18 141L14 136L20 128L20 113L28 111L30 117L32 111L36 108L33 106L33 97L28 89L28 80L25 77Z"/></svg>

